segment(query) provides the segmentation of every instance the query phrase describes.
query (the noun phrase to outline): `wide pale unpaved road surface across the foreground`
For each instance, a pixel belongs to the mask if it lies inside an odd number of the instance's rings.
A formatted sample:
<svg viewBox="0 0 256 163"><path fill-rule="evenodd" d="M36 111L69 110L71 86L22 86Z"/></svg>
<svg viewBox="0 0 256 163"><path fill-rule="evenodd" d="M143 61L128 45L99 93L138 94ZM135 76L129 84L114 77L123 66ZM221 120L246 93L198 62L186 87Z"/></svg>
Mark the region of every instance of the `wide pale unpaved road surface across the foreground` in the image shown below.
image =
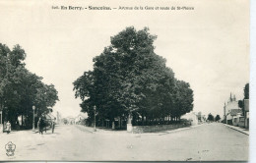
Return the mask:
<svg viewBox="0 0 256 163"><path fill-rule="evenodd" d="M249 153L249 136L219 123L160 135L94 134L75 126L55 131L43 136L32 131L0 134L0 160L244 161ZM16 144L10 157L5 150L9 141Z"/></svg>

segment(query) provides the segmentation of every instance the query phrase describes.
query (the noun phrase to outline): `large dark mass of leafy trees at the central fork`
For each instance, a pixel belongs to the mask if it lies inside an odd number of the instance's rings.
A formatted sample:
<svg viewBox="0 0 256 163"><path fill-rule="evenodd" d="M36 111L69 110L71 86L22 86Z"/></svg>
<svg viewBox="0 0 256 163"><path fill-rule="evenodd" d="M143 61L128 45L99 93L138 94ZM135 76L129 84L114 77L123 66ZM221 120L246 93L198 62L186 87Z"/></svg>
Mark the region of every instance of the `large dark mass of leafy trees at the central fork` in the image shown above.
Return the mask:
<svg viewBox="0 0 256 163"><path fill-rule="evenodd" d="M94 70L73 82L89 120L95 106L99 120L133 117L147 125L179 120L193 109L193 90L154 52L156 38L147 27L126 27L94 58Z"/></svg>

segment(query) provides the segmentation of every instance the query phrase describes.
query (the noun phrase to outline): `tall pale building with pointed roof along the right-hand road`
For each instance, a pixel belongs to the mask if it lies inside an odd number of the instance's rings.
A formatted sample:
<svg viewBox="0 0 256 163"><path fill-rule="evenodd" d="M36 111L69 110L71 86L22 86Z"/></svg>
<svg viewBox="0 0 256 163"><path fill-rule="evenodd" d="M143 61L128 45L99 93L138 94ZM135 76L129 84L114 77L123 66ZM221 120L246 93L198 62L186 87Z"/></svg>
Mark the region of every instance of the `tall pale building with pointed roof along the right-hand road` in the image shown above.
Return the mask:
<svg viewBox="0 0 256 163"><path fill-rule="evenodd" d="M235 98L235 95L232 96L230 93L230 97L227 103L224 103L224 120L226 124L233 124L233 117L237 116L237 114L242 113L242 110L238 106L238 101Z"/></svg>

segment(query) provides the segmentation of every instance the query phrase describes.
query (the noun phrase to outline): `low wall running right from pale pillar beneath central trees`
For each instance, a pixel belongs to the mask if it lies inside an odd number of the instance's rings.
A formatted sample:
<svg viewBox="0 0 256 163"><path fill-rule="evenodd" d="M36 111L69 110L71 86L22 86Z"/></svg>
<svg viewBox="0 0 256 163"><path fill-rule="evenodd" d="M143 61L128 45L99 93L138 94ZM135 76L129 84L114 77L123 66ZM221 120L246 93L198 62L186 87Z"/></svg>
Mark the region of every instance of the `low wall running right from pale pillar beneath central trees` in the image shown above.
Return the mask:
<svg viewBox="0 0 256 163"><path fill-rule="evenodd" d="M172 124L172 125L155 125L155 126L134 126L133 133L140 134L140 133L155 133L155 132L162 132L162 131L171 131L178 128L185 128L191 126L188 123L182 124Z"/></svg>

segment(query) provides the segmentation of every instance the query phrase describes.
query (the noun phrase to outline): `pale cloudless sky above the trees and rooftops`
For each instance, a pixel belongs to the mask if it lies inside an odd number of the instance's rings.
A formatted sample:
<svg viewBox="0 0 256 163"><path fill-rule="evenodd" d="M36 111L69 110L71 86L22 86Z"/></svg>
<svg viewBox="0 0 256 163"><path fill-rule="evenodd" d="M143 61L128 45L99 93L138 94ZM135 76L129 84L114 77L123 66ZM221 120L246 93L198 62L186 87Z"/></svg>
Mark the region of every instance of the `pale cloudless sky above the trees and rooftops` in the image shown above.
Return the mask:
<svg viewBox="0 0 256 163"><path fill-rule="evenodd" d="M15 2L15 3L14 3ZM230 92L243 98L249 81L249 9L245 1L0 1L0 42L27 53L26 67L58 90L63 117L81 108L72 82L93 70L93 58L125 27L158 35L155 52L194 90L194 111L224 114ZM194 11L61 11L52 6L188 6Z"/></svg>

